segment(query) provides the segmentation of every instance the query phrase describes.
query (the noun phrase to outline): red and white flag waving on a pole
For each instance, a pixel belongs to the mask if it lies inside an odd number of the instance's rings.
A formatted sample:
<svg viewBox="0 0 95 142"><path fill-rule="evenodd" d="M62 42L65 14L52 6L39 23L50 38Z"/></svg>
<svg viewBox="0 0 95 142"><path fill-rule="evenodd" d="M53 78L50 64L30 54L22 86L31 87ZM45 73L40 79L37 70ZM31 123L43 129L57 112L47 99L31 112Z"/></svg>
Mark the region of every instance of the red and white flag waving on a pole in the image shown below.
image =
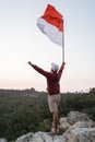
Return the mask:
<svg viewBox="0 0 95 142"><path fill-rule="evenodd" d="M63 20L55 7L47 5L44 15L37 20L37 26L51 42L63 46Z"/></svg>

